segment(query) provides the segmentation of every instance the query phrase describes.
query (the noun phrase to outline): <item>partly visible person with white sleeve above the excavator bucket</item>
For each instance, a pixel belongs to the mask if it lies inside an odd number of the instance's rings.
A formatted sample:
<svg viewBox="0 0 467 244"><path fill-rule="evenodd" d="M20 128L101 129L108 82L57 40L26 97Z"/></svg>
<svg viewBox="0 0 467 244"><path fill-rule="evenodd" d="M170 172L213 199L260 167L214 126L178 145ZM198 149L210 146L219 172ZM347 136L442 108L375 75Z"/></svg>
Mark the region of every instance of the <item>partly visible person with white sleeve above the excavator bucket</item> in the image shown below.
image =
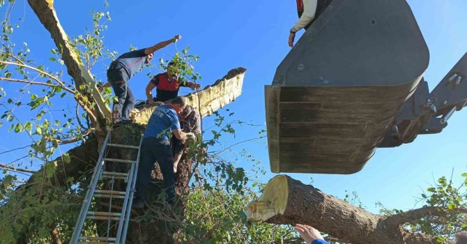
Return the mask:
<svg viewBox="0 0 467 244"><path fill-rule="evenodd" d="M298 22L293 25L289 33L289 47L293 47L295 40L295 33L300 29L308 29L310 25L316 20L316 18L328 8L332 0L296 0L297 1L297 12Z"/></svg>

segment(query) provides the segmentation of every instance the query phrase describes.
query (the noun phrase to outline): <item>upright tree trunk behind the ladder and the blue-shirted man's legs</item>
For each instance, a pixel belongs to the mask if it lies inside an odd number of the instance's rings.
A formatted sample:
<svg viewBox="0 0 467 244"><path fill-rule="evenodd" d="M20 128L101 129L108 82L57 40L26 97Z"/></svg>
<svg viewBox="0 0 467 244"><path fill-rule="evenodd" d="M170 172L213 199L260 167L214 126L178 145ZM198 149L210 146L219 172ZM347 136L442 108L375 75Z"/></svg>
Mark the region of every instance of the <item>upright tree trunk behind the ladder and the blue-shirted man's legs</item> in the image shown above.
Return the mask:
<svg viewBox="0 0 467 244"><path fill-rule="evenodd" d="M144 127L140 125L132 125L119 127L112 132L112 143L115 144L128 144L137 145L140 135L144 132ZM136 151L128 150L112 150L109 151L109 158L122 158L134 160L137 155ZM128 171L128 165L115 163L109 165L115 171ZM185 197L187 194L187 186L190 181L192 172L192 160L186 158L183 154L180 163L178 164L178 171L176 173L175 191L176 191L176 206L172 208L167 204L161 205L158 201L158 196L163 192L163 177L158 164L155 164L151 174L151 183L148 185L148 192L146 193L146 201L148 207L144 210L132 211L131 218L133 220L141 218L142 215L150 215L151 221L134 221L130 222L128 228L127 243L172 243L173 234L180 229L180 225L184 219L185 210ZM125 185L116 185L117 189L124 190ZM118 205L114 202L114 206ZM108 204L105 204L102 211L108 209ZM120 209L118 209L120 210ZM106 230L102 230L100 234L105 234ZM116 227L112 229L112 234L116 234Z"/></svg>

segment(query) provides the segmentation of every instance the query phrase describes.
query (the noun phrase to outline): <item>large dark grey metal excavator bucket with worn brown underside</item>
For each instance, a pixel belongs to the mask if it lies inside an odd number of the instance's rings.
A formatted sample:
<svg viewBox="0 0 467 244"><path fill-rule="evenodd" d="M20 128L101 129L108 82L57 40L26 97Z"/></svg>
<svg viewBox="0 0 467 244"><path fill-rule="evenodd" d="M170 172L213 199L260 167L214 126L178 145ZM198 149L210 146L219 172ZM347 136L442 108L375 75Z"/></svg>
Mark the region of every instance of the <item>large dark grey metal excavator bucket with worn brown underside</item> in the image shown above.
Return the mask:
<svg viewBox="0 0 467 244"><path fill-rule="evenodd" d="M428 62L406 1L332 1L265 86L271 171L360 171Z"/></svg>

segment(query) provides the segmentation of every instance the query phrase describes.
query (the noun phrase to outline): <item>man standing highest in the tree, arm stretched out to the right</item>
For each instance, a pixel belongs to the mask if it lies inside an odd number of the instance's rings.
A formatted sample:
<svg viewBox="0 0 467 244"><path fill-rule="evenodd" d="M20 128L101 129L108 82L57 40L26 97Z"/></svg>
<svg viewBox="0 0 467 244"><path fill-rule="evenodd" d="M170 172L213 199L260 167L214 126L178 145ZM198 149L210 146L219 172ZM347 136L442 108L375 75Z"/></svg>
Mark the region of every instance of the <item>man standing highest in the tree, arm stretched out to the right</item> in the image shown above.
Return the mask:
<svg viewBox="0 0 467 244"><path fill-rule="evenodd" d="M139 73L145 63L151 62L155 51L166 47L170 43L175 43L180 38L181 36L177 35L152 47L127 52L110 63L109 70L107 70L107 83L101 86L99 90L102 91L104 87L112 85L115 96L118 97L118 103L114 104L114 123L127 124L132 122L129 116L131 110L135 107L135 96L133 96L128 85L128 80L136 73Z"/></svg>

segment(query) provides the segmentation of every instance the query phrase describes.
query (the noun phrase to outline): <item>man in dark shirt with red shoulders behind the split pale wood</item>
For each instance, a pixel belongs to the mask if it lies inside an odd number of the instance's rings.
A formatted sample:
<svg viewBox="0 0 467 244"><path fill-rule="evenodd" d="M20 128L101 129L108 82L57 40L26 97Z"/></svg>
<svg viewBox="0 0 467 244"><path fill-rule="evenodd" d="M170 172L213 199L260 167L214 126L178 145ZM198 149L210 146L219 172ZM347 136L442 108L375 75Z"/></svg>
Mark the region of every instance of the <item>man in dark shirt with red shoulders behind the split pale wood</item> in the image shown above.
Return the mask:
<svg viewBox="0 0 467 244"><path fill-rule="evenodd" d="M178 78L177 76L178 74L174 68L173 62L170 62L167 66L166 73L155 75L146 86L146 98L148 98L148 103L153 105L154 102L165 102L167 100L176 98L176 96L178 96L178 90L180 90L180 86L190 87L191 89L201 88L200 84L187 82L186 80ZM156 96L153 98L153 89L155 87L157 87Z"/></svg>

